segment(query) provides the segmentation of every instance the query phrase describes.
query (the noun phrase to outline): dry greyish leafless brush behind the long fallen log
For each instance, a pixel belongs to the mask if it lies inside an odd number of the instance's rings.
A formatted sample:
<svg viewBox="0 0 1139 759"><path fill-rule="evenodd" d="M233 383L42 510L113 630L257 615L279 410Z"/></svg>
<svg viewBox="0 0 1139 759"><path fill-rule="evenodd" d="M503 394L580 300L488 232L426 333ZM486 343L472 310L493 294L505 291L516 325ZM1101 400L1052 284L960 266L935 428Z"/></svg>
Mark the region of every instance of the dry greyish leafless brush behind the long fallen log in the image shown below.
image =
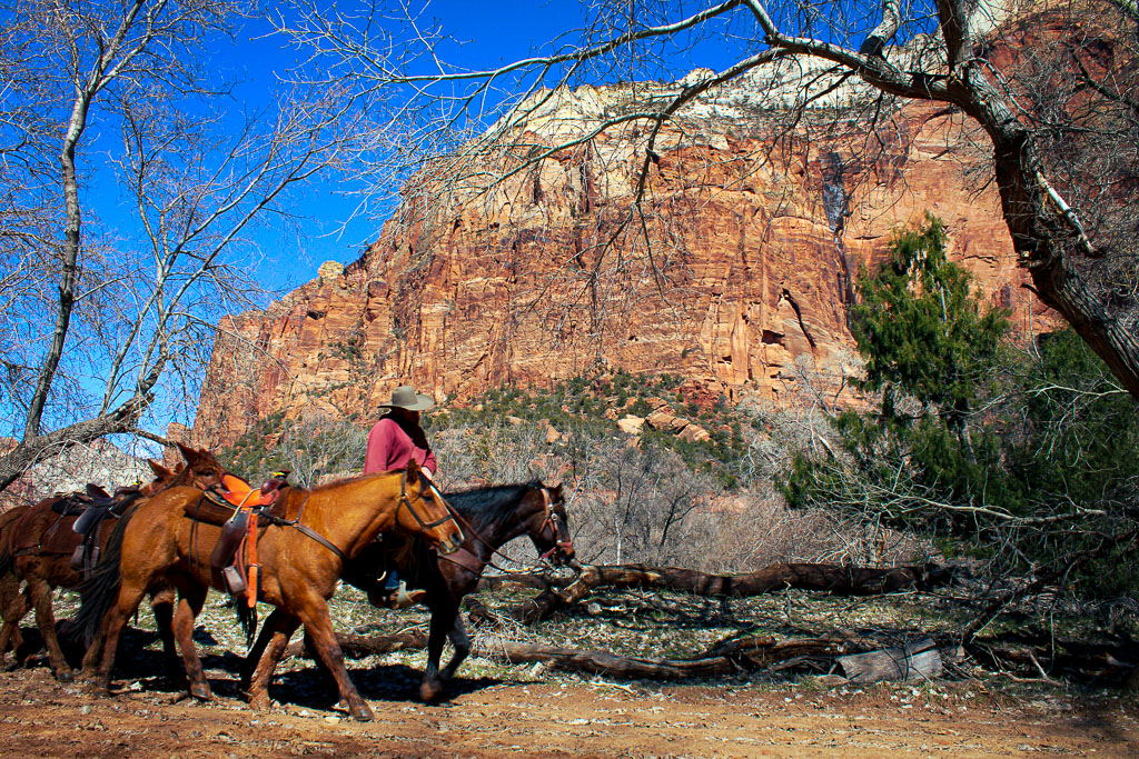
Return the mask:
<svg viewBox="0 0 1139 759"><path fill-rule="evenodd" d="M810 438L808 423L803 416L773 418L763 436L763 470L734 494L671 451L585 426L549 444L541 422L457 424L436 428L433 444L444 488L534 478L562 482L584 562L746 572L778 562L893 564L927 558L928 546L872 522L786 508L771 478L789 460L787 447Z"/></svg>

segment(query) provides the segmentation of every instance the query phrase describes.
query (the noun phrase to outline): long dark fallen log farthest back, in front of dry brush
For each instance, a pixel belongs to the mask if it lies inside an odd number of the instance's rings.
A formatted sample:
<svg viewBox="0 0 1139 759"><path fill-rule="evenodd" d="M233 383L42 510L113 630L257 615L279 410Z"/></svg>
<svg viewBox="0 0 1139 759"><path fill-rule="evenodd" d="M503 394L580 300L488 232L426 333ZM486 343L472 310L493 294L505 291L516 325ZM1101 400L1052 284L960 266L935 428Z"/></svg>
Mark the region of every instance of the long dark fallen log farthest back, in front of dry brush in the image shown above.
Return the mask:
<svg viewBox="0 0 1139 759"><path fill-rule="evenodd" d="M562 589L546 589L513 612L515 619L533 624L571 607L595 588L638 587L688 591L697 595L749 596L797 588L836 595L877 595L900 589L925 591L949 585L957 571L940 564L868 568L839 564L772 564L748 575L707 575L691 569L647 564L582 567L581 575Z"/></svg>

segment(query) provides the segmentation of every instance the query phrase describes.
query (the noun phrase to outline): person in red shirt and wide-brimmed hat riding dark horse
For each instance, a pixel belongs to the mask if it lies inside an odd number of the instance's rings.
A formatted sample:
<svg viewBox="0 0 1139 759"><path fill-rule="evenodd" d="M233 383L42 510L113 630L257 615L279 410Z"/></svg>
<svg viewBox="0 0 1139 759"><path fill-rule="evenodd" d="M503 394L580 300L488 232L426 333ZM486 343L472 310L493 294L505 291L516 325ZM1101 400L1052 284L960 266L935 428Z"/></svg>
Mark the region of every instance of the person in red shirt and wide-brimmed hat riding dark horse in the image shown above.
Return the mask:
<svg viewBox="0 0 1139 759"><path fill-rule="evenodd" d="M419 426L419 413L434 406L435 402L431 396L416 393L410 385L403 385L392 390L391 403L379 405L385 412L368 434L363 473L403 469L415 460L419 464L420 472L428 480L433 479L436 467L435 454L427 443L427 435ZM427 596L426 591L408 591L407 583L396 576L394 569L387 574L384 591L386 597L379 599L376 605L392 609L404 609Z"/></svg>

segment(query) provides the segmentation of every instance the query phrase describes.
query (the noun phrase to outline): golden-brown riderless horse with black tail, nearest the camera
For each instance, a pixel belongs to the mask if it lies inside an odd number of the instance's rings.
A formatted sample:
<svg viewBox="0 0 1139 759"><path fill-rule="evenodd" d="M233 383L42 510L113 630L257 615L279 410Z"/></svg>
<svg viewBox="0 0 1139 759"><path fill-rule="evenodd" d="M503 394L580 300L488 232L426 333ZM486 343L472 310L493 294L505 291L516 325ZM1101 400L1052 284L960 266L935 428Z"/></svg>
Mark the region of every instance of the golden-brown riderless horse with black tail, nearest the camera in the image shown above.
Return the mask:
<svg viewBox="0 0 1139 759"><path fill-rule="evenodd" d="M98 584L77 618L81 625L98 629L83 660L83 675L97 690L109 690L118 636L142 595L166 581L179 592L174 637L190 694L212 698L194 646L194 620L210 587L224 585L211 568L221 528L187 515L200 496L190 488L159 493L121 519L112 534L96 569ZM273 509L279 518L261 528L257 539L259 599L304 624L352 716L371 719L371 709L349 679L328 614L327 602L344 564L380 531L421 534L444 553L458 547L462 533L413 463L407 470L366 475L311 492L287 488Z"/></svg>

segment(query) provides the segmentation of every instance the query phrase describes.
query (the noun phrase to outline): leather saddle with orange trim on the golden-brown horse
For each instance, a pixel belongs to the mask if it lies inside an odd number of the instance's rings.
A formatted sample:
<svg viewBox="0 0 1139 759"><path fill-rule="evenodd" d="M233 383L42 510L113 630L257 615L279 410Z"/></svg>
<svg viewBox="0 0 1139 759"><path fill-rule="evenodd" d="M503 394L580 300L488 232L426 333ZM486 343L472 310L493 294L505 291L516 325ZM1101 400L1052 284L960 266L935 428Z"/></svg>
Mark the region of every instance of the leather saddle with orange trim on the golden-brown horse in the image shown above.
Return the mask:
<svg viewBox="0 0 1139 759"><path fill-rule="evenodd" d="M248 608L257 600L257 529L279 521L272 514L280 489L288 485L287 471L274 472L257 489L244 479L224 475L222 485L207 490L196 503L185 506L196 522L221 527L221 535L210 554L210 566L221 575L235 599Z"/></svg>

